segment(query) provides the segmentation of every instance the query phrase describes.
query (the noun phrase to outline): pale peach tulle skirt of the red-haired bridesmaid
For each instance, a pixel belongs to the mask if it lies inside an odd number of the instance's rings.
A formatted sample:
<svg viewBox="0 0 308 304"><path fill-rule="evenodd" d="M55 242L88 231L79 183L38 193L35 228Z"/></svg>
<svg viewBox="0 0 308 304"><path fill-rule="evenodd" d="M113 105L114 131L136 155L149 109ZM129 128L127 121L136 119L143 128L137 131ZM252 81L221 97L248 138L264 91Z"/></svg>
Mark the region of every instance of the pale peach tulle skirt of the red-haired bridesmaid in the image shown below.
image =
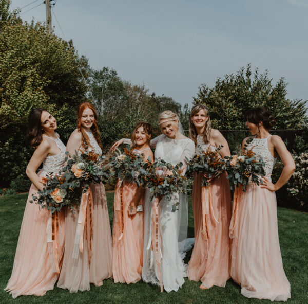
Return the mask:
<svg viewBox="0 0 308 304"><path fill-rule="evenodd" d="M74 214L70 210L67 212L65 252L57 287L68 289L70 293L90 290L90 283L98 286L112 276L112 240L105 188L103 184L94 183L90 188L94 217L92 252L88 246L91 232L87 226L83 234L83 252L79 252L76 259L72 256L79 208Z"/></svg>

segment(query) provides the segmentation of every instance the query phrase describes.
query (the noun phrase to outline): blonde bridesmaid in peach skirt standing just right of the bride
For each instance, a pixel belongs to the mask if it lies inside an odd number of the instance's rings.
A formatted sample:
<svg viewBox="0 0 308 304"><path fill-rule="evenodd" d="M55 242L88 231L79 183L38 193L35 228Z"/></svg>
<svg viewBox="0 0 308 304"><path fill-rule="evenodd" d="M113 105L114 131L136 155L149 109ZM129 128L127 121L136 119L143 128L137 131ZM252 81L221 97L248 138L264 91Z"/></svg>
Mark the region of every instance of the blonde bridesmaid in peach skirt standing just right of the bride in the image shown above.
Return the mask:
<svg viewBox="0 0 308 304"><path fill-rule="evenodd" d="M226 139L218 130L211 128L209 110L204 104L197 104L191 109L189 137L195 142L196 154L206 149L215 151L221 146L221 157L230 155ZM203 173L195 173L194 176L195 245L187 274L189 280L202 282L201 289L213 285L225 287L230 277L230 187L225 172L208 180L208 187L201 186L203 176Z"/></svg>

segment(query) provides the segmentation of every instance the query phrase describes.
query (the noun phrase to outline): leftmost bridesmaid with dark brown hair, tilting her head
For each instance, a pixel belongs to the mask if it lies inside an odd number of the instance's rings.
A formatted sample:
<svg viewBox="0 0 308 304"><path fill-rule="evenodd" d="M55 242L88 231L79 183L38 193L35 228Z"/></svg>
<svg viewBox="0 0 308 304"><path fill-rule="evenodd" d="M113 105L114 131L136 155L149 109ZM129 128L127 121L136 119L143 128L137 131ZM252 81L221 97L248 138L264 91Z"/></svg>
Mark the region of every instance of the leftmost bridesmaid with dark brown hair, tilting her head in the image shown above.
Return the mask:
<svg viewBox="0 0 308 304"><path fill-rule="evenodd" d="M35 203L32 195L43 189L43 178L56 174L64 166L65 145L55 132L55 118L45 109L33 109L29 115L27 138L35 151L26 169L32 182L18 238L11 278L5 290L13 298L20 295L43 296L52 290L61 269L64 250L64 214L51 214ZM36 174L43 163L42 170ZM55 228L52 231L52 227Z"/></svg>

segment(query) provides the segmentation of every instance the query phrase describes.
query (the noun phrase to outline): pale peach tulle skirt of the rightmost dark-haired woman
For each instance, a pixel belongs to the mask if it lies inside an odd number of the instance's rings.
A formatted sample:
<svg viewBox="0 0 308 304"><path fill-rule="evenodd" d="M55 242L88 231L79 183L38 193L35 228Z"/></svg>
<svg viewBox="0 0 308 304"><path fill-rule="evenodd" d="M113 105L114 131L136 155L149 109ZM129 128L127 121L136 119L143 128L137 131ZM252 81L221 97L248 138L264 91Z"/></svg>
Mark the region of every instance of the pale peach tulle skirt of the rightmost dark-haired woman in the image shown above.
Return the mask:
<svg viewBox="0 0 308 304"><path fill-rule="evenodd" d="M248 298L286 301L291 297L280 253L275 192L249 183L238 189L230 225L231 276Z"/></svg>

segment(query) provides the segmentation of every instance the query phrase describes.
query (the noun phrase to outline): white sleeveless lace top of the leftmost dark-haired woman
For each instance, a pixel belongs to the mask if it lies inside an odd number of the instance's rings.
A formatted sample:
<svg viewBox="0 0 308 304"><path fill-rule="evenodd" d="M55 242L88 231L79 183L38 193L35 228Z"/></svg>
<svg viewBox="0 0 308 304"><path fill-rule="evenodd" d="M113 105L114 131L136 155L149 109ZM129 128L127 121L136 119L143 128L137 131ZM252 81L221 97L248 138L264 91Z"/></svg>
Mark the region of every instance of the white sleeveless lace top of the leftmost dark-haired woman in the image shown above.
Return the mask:
<svg viewBox="0 0 308 304"><path fill-rule="evenodd" d="M48 137L48 136L45 136L45 137ZM46 173L57 173L64 166L66 147L60 138L52 138L52 137L48 137L48 138L51 138L52 140L55 141L60 151L59 153L55 155L46 156L46 158L43 160L42 173L45 173L45 174Z"/></svg>

